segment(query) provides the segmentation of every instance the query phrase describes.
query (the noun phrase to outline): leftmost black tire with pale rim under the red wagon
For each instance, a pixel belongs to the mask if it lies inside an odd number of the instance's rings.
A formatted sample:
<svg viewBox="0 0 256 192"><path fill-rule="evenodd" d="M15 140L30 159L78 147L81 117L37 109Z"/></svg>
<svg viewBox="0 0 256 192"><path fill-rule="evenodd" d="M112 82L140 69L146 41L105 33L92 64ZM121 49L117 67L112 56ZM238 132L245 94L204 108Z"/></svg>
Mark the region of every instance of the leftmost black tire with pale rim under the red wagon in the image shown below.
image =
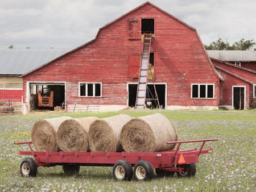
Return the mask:
<svg viewBox="0 0 256 192"><path fill-rule="evenodd" d="M20 173L22 177L36 177L38 166L33 158L27 157L20 164Z"/></svg>

